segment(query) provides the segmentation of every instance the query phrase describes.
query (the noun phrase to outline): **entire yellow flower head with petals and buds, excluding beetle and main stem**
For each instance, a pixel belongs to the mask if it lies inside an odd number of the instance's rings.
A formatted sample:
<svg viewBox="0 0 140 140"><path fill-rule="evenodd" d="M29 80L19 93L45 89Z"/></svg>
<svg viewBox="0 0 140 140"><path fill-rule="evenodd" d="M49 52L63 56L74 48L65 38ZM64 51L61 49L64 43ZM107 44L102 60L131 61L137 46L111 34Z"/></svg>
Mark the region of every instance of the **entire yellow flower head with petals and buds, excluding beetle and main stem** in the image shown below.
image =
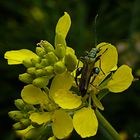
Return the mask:
<svg viewBox="0 0 140 140"><path fill-rule="evenodd" d="M48 41L41 41L36 53L27 49L5 53L8 64L23 64L27 68L19 75L27 85L21 91L22 99L15 100L18 110L9 112L16 121L13 127L24 139L64 139L73 129L82 138L96 135L96 110L104 109L100 100L109 91L119 93L126 90L133 81L129 66L117 67L115 46L100 43L96 46L101 49L95 67L101 70L99 74L91 75L87 93L81 96L75 82L76 66L80 60L65 40L70 25L70 16L65 12L56 25L55 48ZM83 65L80 62L78 67ZM77 83L80 80L78 76ZM107 92L102 92L104 90Z"/></svg>

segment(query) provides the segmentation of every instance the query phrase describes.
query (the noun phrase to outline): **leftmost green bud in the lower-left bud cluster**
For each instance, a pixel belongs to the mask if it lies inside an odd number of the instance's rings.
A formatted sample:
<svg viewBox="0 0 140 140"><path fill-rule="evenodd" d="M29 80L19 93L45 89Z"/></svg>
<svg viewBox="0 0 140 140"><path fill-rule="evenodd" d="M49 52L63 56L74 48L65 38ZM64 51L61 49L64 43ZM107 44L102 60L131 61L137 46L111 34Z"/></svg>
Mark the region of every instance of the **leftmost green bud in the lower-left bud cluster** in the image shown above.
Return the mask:
<svg viewBox="0 0 140 140"><path fill-rule="evenodd" d="M21 111L18 110L10 111L8 112L8 115L15 121L19 121L20 119L25 117L25 114L23 114Z"/></svg>

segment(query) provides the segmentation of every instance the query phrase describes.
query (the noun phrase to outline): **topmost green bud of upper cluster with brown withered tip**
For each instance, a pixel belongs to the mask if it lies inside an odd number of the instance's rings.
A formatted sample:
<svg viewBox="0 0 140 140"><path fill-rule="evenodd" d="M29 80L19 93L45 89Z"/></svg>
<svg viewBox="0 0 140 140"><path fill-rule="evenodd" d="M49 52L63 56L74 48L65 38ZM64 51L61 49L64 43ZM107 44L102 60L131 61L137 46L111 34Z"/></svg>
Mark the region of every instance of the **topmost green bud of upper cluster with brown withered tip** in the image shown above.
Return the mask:
<svg viewBox="0 0 140 140"><path fill-rule="evenodd" d="M38 43L37 45L43 47L46 52L54 51L54 47L46 40L41 40L40 43Z"/></svg>

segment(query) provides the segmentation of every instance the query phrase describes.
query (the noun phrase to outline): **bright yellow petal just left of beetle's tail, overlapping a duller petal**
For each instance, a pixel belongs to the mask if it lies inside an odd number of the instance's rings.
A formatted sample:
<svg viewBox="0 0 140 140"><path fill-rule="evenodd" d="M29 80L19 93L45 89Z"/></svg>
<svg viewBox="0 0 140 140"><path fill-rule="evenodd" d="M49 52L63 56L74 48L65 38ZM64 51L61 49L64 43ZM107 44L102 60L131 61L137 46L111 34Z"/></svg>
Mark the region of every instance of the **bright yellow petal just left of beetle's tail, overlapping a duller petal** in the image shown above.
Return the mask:
<svg viewBox="0 0 140 140"><path fill-rule="evenodd" d="M81 97L71 91L59 89L55 92L54 101L63 109L74 109L81 105Z"/></svg>

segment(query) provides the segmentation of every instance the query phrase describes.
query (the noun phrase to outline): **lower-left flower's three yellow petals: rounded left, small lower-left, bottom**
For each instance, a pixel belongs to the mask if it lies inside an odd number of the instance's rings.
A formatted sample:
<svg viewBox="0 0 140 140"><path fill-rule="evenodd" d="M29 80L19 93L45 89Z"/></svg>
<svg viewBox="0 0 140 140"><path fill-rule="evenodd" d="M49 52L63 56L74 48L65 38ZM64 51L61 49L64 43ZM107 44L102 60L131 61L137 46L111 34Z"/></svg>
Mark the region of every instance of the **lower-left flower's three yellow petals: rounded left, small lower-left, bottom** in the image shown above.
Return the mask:
<svg viewBox="0 0 140 140"><path fill-rule="evenodd" d="M52 130L57 138L62 139L69 136L73 130L72 118L62 109L58 109L45 92L33 85L27 85L23 88L21 96L26 103L40 104L42 108L47 109L47 112L30 113L29 118L32 122L39 125L52 122ZM63 97L61 96L61 98Z"/></svg>

